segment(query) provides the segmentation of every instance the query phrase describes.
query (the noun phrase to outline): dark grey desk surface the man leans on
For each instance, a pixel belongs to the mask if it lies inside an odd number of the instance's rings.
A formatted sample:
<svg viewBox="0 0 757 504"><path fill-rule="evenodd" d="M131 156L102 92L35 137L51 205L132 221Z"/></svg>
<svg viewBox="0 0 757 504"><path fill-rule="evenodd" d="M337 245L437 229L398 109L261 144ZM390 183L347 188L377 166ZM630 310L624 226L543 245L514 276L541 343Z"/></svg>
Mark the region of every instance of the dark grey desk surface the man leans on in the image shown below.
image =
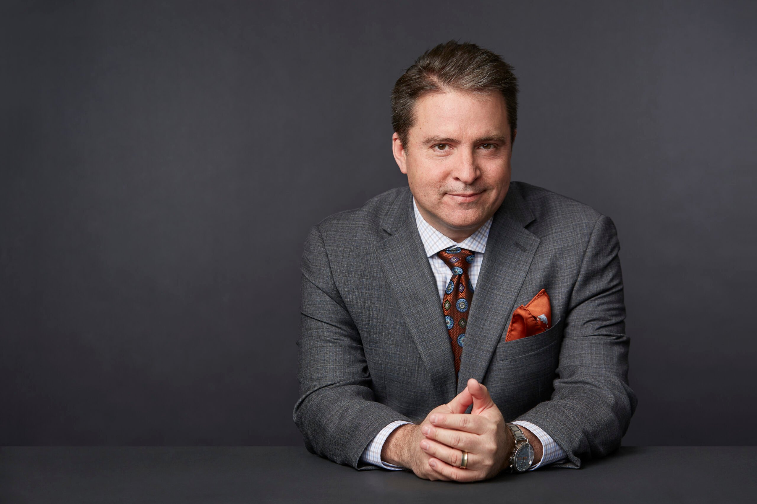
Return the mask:
<svg viewBox="0 0 757 504"><path fill-rule="evenodd" d="M757 447L622 447L459 484L304 447L0 447L0 502L755 502Z"/></svg>

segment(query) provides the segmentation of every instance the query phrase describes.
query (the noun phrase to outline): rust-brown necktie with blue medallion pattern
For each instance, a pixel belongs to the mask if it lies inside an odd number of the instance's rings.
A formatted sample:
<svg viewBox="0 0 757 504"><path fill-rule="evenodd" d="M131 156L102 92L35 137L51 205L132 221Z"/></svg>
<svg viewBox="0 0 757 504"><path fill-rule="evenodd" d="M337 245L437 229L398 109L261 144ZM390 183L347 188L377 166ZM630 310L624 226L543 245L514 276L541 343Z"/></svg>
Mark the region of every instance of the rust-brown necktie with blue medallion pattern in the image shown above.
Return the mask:
<svg viewBox="0 0 757 504"><path fill-rule="evenodd" d="M468 277L475 252L460 247L442 250L437 254L452 270L452 278L444 289L444 299L441 308L444 311L444 322L450 333L452 354L455 357L455 376L460 373L460 356L466 341L466 325L468 325L468 310L473 297L471 281Z"/></svg>

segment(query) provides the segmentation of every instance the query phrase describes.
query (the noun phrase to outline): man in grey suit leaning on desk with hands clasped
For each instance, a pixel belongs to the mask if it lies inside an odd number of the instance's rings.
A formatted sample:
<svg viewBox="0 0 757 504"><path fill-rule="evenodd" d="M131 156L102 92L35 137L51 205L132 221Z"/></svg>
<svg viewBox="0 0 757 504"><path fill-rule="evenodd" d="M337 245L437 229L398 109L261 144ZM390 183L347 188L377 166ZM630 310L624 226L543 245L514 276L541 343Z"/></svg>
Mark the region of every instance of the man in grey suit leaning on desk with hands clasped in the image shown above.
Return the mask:
<svg viewBox="0 0 757 504"><path fill-rule="evenodd" d="M477 481L620 445L637 400L615 226L510 183L516 94L491 51L427 51L392 92L409 187L310 230L293 414L311 453Z"/></svg>

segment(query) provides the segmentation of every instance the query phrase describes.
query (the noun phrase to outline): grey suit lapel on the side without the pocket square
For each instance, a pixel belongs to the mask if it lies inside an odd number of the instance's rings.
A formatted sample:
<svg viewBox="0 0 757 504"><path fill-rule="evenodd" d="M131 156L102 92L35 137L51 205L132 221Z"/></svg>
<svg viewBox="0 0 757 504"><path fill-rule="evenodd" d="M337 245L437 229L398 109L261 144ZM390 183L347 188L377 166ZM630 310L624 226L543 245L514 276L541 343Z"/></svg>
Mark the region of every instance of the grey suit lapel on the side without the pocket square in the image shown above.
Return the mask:
<svg viewBox="0 0 757 504"><path fill-rule="evenodd" d="M416 226L409 188L397 197L382 227L391 236L376 245L378 261L431 376L439 404L446 403L455 391L450 335L444 325L436 280Z"/></svg>

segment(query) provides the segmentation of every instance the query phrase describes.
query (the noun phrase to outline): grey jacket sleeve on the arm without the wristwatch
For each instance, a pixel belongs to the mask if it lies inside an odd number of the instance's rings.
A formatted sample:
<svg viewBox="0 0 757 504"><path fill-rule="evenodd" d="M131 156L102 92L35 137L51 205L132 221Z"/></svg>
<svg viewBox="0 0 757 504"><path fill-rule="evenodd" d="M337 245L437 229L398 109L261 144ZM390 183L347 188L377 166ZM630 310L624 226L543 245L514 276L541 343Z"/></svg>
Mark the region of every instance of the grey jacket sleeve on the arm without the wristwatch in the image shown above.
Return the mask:
<svg viewBox="0 0 757 504"><path fill-rule="evenodd" d="M299 398L292 416L310 453L358 470L376 434L396 420L413 421L375 401L360 333L335 286L318 227L302 255Z"/></svg>

